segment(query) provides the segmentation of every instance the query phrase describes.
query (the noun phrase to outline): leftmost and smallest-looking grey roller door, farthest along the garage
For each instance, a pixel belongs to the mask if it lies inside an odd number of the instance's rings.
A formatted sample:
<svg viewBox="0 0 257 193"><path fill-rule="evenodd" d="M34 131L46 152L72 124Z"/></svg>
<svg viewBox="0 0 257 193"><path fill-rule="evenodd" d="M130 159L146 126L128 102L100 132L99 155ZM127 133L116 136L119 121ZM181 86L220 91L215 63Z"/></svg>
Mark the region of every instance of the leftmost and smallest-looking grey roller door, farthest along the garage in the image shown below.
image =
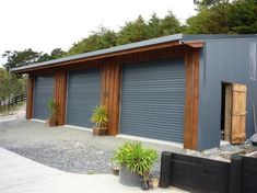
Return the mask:
<svg viewBox="0 0 257 193"><path fill-rule="evenodd" d="M35 78L34 118L47 120L49 111L47 103L54 96L54 75Z"/></svg>

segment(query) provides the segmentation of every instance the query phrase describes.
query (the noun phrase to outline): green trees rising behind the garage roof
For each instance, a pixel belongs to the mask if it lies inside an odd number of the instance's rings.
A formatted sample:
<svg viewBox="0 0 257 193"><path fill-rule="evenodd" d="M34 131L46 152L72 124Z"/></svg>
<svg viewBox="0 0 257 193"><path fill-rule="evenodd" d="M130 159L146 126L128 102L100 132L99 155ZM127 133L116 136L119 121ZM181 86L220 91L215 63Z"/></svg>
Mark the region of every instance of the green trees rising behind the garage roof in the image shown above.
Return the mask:
<svg viewBox="0 0 257 193"><path fill-rule="evenodd" d="M153 13L149 20L139 15L135 21L126 22L117 32L104 26L100 27L100 30L92 32L87 37L71 45L67 52L61 48L55 48L50 54L38 53L31 48L25 50L7 50L2 54L2 57L7 59L7 63L3 64L7 71L3 72L3 69L0 71L2 73L0 77L0 94L10 93L5 91L5 87L15 84L3 83L8 81L3 80L2 77L10 76L9 79L13 79L9 70L17 66L42 63L176 33L257 34L257 0L194 0L194 3L197 14L187 19L186 24L179 22L171 11L164 18L159 18ZM25 77L15 76L14 79L25 79ZM13 81L15 82L16 80ZM17 86L22 87L19 81L16 82Z"/></svg>

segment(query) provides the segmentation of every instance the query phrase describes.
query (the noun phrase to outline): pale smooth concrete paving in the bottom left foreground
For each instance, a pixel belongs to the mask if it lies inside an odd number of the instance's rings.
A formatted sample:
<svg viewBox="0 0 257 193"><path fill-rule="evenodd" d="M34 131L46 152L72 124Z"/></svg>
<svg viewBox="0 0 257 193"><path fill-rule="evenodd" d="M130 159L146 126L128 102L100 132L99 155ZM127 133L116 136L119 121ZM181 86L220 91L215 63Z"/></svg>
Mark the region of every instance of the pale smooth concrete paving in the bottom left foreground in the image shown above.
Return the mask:
<svg viewBox="0 0 257 193"><path fill-rule="evenodd" d="M145 192L139 188L124 186L112 174L77 174L60 171L12 151L0 148L1 193L130 193ZM155 189L151 192L186 192L175 188Z"/></svg>

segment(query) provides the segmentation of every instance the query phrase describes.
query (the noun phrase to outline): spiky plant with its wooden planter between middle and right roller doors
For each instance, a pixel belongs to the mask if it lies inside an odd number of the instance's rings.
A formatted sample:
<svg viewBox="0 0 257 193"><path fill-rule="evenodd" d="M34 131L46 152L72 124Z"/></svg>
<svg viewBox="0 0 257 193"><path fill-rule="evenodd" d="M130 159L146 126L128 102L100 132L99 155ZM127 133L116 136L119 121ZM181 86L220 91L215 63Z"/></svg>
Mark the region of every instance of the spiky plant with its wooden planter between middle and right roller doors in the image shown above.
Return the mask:
<svg viewBox="0 0 257 193"><path fill-rule="evenodd" d="M100 105L93 110L91 122L95 124L93 126L93 135L105 135L107 130L107 124L109 122L108 112L106 106Z"/></svg>

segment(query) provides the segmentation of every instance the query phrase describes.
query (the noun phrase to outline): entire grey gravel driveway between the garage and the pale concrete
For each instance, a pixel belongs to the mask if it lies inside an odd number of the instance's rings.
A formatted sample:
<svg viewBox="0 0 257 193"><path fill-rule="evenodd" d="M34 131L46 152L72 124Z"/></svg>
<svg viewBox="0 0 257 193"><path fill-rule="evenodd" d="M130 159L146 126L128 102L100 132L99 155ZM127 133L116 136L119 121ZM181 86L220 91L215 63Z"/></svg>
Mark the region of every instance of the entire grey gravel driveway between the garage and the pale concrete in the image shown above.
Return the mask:
<svg viewBox="0 0 257 193"><path fill-rule="evenodd" d="M125 139L93 136L69 127L48 127L22 118L0 123L0 146L46 166L74 173L110 173L110 158ZM179 148L143 143L163 150ZM159 173L160 160L154 173Z"/></svg>

